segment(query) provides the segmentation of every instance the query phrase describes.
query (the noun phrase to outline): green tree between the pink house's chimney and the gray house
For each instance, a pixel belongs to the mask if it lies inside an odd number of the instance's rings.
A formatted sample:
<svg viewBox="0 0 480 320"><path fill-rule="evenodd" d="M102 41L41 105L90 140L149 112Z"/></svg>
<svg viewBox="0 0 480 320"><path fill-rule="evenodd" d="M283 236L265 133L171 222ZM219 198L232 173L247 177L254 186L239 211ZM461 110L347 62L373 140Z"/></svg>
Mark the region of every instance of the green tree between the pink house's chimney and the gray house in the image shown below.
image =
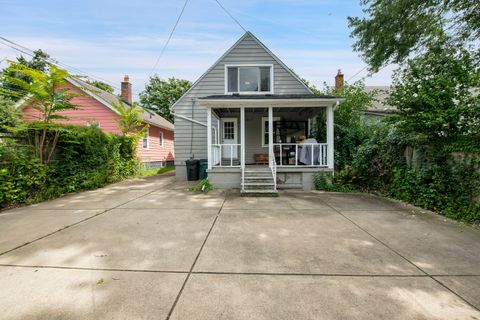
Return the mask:
<svg viewBox="0 0 480 320"><path fill-rule="evenodd" d="M188 80L169 78L161 79L158 75L150 77L145 90L140 93L140 104L161 115L170 122L173 116L170 107L192 86Z"/></svg>

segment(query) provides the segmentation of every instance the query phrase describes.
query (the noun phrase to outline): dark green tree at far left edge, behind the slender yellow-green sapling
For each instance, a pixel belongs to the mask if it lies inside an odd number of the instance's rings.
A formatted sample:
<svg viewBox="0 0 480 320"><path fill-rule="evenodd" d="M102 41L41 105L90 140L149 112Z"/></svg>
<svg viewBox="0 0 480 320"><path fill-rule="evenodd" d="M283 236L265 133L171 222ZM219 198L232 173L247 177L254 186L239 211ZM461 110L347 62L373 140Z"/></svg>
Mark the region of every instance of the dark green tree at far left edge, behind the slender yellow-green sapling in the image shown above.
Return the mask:
<svg viewBox="0 0 480 320"><path fill-rule="evenodd" d="M43 52L41 49L38 49L33 52L32 59L27 60L25 57L20 56L17 58L15 63L24 65L29 69L45 72L49 65L47 61L49 57L50 56L47 53ZM9 67L1 71L1 75L3 76L0 78L0 95L7 97L8 99L18 101L23 98L27 92L25 92L21 86L15 84L10 79L17 78L27 83L31 83L33 79L28 75L17 72L12 66L13 65L11 64Z"/></svg>

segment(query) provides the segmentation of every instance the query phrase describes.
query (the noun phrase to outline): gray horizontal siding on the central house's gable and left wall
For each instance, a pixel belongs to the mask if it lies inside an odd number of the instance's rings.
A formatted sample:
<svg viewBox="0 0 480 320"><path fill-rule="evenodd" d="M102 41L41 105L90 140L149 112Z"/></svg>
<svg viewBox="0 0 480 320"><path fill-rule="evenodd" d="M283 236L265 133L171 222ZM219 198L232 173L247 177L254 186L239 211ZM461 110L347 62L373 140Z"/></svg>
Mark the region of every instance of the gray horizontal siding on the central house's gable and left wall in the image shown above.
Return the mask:
<svg viewBox="0 0 480 320"><path fill-rule="evenodd" d="M207 123L207 111L195 98L225 93L225 64L272 64L275 94L305 94L308 89L285 70L257 41L246 34L174 107L178 115ZM193 110L192 110L193 108ZM260 139L260 135L258 135ZM175 164L194 156L207 158L207 128L175 117ZM182 170L182 169L180 169Z"/></svg>

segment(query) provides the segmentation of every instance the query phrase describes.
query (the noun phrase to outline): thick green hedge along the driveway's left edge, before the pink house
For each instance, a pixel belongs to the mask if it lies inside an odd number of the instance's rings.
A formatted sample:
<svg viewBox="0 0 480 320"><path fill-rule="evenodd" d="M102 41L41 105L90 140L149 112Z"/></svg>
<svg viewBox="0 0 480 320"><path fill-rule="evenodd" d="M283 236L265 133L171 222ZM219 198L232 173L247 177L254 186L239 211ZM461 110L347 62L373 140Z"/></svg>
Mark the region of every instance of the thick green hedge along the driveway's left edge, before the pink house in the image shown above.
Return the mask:
<svg viewBox="0 0 480 320"><path fill-rule="evenodd" d="M133 138L106 134L96 127L58 125L53 159L42 164L29 146L35 124L17 131L17 141L0 144L0 208L41 201L68 192L95 189L137 173Z"/></svg>

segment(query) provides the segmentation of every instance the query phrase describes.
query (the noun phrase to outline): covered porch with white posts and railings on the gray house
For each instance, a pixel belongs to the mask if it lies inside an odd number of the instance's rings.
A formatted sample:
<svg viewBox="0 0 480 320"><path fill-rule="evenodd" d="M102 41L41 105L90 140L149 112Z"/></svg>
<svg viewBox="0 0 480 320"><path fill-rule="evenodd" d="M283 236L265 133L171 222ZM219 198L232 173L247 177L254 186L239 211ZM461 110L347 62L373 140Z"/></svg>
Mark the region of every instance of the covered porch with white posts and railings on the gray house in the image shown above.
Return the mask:
<svg viewBox="0 0 480 320"><path fill-rule="evenodd" d="M228 180L225 186L244 190L245 172L263 166L271 172L276 190L287 174L299 180L292 185L306 188L311 181L304 180L311 180L313 172L333 171L333 108L337 100L313 100L206 101L209 176L218 173ZM325 113L322 125L326 132L324 140L317 141L312 134L321 112Z"/></svg>

